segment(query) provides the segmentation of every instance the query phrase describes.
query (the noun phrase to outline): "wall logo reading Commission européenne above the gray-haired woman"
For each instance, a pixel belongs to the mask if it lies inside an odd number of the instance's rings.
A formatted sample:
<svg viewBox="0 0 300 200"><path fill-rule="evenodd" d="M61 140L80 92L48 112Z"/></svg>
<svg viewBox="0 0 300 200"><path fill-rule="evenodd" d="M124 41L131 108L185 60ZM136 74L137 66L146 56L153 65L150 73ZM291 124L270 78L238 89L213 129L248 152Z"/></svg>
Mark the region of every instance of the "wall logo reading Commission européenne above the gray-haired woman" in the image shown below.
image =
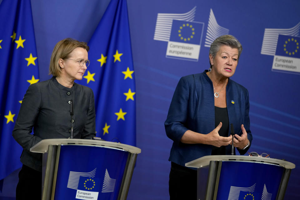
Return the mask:
<svg viewBox="0 0 300 200"><path fill-rule="evenodd" d="M198 61L204 23L194 21L196 6L183 14L158 13L154 40L168 42L166 57ZM228 34L229 30L217 24L210 10L205 47L219 36Z"/></svg>

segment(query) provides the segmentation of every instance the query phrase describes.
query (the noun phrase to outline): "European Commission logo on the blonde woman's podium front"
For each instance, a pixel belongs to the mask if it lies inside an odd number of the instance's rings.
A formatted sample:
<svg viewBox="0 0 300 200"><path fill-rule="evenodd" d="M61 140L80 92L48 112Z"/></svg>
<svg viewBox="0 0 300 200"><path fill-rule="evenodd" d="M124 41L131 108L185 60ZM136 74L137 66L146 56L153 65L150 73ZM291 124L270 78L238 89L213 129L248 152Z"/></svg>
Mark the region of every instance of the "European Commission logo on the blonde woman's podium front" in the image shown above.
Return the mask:
<svg viewBox="0 0 300 200"><path fill-rule="evenodd" d="M91 172L73 172L70 171L68 178L68 188L76 190L77 199L97 199L99 190L102 185L101 192L114 192L116 179L109 176L108 170L103 175L103 183L96 178L96 169Z"/></svg>

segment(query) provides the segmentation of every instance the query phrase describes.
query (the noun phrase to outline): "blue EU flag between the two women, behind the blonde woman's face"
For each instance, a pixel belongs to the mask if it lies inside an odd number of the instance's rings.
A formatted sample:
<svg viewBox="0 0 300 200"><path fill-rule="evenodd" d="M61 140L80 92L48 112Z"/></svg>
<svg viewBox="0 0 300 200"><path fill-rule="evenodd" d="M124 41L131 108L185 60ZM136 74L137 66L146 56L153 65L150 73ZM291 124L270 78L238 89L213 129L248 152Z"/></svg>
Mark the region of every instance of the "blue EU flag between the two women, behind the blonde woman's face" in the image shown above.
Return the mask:
<svg viewBox="0 0 300 200"><path fill-rule="evenodd" d="M93 89L97 137L136 145L135 80L126 0L111 0L90 42L80 84Z"/></svg>

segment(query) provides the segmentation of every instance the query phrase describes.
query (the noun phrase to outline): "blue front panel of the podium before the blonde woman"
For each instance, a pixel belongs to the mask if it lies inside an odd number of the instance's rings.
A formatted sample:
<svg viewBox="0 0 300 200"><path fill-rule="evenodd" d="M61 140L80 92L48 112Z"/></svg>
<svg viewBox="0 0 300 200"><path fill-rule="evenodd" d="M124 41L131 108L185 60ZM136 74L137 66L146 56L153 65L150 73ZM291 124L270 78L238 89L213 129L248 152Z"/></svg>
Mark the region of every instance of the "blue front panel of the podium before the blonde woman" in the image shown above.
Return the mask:
<svg viewBox="0 0 300 200"><path fill-rule="evenodd" d="M61 146L54 199L117 199L127 159L118 149Z"/></svg>

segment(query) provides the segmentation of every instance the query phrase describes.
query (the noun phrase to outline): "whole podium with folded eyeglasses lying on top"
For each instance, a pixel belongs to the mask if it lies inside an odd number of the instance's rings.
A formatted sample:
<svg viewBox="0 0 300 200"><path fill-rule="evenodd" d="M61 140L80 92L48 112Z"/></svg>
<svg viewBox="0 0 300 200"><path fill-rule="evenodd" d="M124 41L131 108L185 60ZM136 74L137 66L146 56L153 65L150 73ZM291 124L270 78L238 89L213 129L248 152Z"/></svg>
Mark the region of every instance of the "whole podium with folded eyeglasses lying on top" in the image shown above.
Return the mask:
<svg viewBox="0 0 300 200"><path fill-rule="evenodd" d="M197 200L283 200L295 164L273 158L204 156L197 169Z"/></svg>

